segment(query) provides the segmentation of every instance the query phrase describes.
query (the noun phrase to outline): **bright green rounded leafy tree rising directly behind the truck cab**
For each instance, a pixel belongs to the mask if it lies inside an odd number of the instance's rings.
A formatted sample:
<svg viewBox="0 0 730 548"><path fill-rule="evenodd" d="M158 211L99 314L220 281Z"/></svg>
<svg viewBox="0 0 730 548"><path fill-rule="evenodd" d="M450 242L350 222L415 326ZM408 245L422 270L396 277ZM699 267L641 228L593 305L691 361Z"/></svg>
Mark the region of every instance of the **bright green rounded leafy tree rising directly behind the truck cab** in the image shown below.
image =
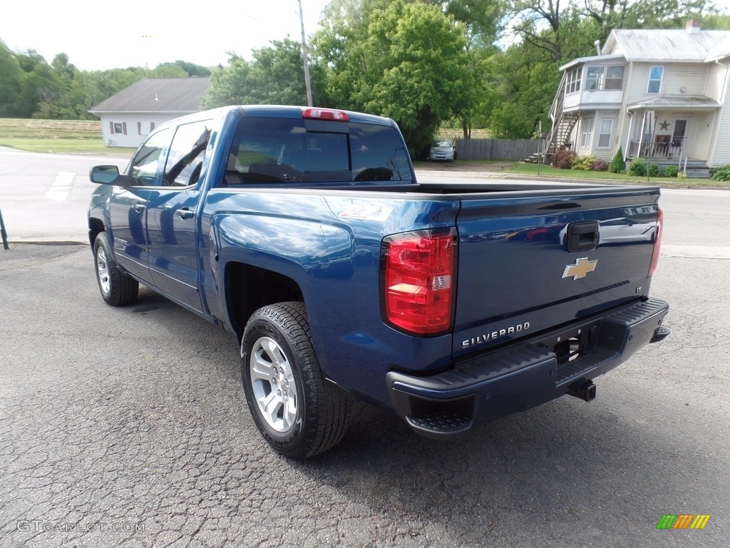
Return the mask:
<svg viewBox="0 0 730 548"><path fill-rule="evenodd" d="M326 101L393 118L414 156L440 124L476 103L466 28L407 0L335 0L312 39L326 66Z"/></svg>

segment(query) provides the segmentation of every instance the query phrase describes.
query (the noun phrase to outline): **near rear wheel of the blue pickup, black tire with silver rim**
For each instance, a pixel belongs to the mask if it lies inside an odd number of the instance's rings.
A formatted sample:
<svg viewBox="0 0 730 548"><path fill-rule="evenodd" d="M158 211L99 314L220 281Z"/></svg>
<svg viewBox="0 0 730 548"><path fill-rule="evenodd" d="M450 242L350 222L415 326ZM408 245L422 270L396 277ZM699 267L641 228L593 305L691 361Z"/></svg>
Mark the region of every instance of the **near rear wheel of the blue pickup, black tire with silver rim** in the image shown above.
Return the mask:
<svg viewBox="0 0 730 548"><path fill-rule="evenodd" d="M277 452L306 459L342 439L349 402L323 377L304 303L280 302L255 311L241 340L241 357L251 415Z"/></svg>

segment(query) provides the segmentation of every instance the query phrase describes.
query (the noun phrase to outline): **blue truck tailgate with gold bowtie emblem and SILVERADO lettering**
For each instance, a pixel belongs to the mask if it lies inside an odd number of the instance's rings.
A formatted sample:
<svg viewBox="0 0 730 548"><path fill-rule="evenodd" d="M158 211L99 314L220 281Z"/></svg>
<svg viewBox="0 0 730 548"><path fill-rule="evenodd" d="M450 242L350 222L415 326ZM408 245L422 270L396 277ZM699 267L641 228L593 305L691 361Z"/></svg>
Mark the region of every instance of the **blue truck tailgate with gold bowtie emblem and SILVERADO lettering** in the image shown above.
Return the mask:
<svg viewBox="0 0 730 548"><path fill-rule="evenodd" d="M656 187L462 195L453 355L641 300L658 197Z"/></svg>

